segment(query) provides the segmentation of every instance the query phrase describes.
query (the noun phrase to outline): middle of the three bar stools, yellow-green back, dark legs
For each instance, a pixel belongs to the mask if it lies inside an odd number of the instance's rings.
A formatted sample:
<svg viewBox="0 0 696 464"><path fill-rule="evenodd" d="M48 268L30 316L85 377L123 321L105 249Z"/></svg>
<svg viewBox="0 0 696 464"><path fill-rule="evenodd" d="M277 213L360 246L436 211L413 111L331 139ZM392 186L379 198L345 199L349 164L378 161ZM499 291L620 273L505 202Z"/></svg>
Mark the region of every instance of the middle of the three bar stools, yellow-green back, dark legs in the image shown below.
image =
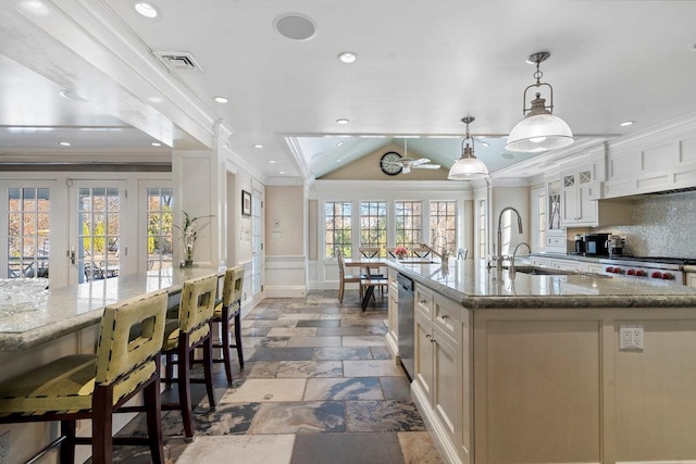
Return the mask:
<svg viewBox="0 0 696 464"><path fill-rule="evenodd" d="M215 309L215 290L217 275L211 274L184 281L178 318L167 319L162 353L166 359L166 374L163 381L167 385L176 383L178 403L162 404L162 411L181 411L184 422L186 441L194 440L194 413L191 405L190 384L204 381L211 411L215 410L215 394L212 380L212 337L210 322ZM203 351L204 379L190 377L191 352L196 348ZM176 356L176 361L174 361ZM177 375L173 375L176 364Z"/></svg>

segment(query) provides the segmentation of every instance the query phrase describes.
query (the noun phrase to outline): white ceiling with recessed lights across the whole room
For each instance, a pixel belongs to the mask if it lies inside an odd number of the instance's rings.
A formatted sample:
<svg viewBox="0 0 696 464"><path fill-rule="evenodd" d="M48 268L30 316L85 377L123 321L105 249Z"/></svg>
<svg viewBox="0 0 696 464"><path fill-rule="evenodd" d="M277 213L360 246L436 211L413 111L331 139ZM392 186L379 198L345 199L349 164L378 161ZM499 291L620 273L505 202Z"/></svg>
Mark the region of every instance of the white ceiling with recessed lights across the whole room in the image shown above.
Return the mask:
<svg viewBox="0 0 696 464"><path fill-rule="evenodd" d="M505 140L490 137L521 120L534 83L525 58L544 50L555 114L581 141L696 109L694 1L151 2L154 20L132 0L3 1L0 162L159 156L166 146L212 147L224 126L228 147L269 183L319 177L405 136L420 136L409 150L448 167L460 155L460 120L473 115L472 135L490 143L476 155L495 172L531 156L504 158ZM311 18L316 35L281 36L274 21L286 13ZM171 71L153 51L189 52L202 72ZM340 63L343 51L357 62ZM87 101L60 97L65 88ZM626 120L636 124L620 127ZM57 146L67 138L72 147Z"/></svg>

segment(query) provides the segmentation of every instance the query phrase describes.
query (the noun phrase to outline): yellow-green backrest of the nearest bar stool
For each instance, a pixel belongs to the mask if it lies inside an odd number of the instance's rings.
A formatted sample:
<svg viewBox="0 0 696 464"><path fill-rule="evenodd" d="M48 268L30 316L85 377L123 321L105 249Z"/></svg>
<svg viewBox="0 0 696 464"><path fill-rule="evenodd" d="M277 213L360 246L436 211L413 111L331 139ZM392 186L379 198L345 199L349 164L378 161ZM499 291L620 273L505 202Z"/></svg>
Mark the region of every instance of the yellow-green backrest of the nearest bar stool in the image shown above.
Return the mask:
<svg viewBox="0 0 696 464"><path fill-rule="evenodd" d="M166 291L130 298L104 309L97 347L95 383L108 385L162 350ZM130 337L136 327L139 335Z"/></svg>

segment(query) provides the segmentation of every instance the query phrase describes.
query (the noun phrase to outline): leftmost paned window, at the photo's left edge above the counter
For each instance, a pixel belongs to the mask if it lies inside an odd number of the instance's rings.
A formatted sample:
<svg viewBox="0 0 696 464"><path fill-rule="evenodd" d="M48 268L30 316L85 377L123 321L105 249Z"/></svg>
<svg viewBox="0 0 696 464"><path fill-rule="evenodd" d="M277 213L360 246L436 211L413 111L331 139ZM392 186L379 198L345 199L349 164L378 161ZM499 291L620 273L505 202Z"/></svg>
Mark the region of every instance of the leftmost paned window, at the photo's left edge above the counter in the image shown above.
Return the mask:
<svg viewBox="0 0 696 464"><path fill-rule="evenodd" d="M8 193L8 277L48 277L49 189Z"/></svg>

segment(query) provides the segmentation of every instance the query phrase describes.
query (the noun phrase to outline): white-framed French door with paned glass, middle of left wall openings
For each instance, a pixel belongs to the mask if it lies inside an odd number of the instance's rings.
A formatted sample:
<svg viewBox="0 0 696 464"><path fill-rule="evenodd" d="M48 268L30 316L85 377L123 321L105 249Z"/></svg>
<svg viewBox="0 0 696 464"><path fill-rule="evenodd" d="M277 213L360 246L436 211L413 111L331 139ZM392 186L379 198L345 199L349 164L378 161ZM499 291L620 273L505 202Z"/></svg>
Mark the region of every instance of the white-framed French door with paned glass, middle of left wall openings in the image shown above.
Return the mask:
<svg viewBox="0 0 696 464"><path fill-rule="evenodd" d="M127 254L122 230L124 180L73 180L70 188L70 284L117 277Z"/></svg>

